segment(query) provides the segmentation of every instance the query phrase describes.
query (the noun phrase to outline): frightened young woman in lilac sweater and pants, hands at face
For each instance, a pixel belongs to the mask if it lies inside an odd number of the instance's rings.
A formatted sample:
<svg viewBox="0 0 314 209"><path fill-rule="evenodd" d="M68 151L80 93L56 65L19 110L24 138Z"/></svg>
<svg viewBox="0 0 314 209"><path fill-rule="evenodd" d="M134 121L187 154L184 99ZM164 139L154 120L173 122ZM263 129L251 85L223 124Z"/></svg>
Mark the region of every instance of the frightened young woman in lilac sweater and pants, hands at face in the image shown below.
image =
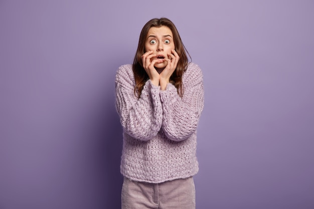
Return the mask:
<svg viewBox="0 0 314 209"><path fill-rule="evenodd" d="M122 208L195 208L203 76L188 63L169 19L145 24L133 65L119 67L115 87L123 127Z"/></svg>

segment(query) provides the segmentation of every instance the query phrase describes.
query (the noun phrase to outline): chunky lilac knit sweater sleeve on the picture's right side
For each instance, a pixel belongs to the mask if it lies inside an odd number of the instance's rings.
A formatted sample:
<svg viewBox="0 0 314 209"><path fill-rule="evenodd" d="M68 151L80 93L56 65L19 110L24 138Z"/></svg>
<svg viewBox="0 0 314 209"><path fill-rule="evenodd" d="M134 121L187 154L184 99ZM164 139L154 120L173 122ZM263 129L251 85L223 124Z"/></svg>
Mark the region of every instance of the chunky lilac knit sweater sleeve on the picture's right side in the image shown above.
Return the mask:
<svg viewBox="0 0 314 209"><path fill-rule="evenodd" d="M171 83L160 93L163 106L162 127L166 136L174 141L185 140L196 131L204 107L203 75L198 65L189 65L183 83L182 98Z"/></svg>

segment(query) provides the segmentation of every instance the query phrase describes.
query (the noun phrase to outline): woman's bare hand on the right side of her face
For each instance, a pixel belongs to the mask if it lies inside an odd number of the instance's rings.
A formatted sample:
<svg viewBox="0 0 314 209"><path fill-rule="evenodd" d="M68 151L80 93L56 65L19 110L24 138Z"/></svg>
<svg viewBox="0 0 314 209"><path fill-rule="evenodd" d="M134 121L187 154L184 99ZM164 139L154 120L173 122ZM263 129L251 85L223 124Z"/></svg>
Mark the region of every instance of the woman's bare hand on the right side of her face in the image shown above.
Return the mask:
<svg viewBox="0 0 314 209"><path fill-rule="evenodd" d="M171 54L168 54L171 59L164 59L164 61L167 61L167 66L160 74L159 84L161 86L161 90L166 90L166 86L169 83L170 77L175 72L180 59L178 53L175 50L172 50L171 52Z"/></svg>

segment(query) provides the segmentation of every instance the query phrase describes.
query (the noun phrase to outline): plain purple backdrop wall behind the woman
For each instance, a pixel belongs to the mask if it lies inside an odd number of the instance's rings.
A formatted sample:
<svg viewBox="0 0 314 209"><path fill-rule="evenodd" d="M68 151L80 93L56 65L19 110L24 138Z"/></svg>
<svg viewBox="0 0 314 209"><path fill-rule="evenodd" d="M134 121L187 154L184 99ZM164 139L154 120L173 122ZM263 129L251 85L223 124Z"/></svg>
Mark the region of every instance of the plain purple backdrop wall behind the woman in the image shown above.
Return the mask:
<svg viewBox="0 0 314 209"><path fill-rule="evenodd" d="M313 1L0 1L0 208L119 208L114 76L168 17L203 69L197 208L314 208Z"/></svg>

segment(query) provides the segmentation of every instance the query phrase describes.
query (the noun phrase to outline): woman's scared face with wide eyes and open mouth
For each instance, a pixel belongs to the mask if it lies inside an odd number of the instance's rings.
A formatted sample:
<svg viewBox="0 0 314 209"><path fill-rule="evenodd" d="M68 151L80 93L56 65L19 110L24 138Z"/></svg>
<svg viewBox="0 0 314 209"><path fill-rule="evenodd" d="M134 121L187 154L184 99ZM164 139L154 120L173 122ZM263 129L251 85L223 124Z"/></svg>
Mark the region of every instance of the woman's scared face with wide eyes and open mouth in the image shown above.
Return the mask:
<svg viewBox="0 0 314 209"><path fill-rule="evenodd" d="M150 61L154 59L162 60L164 58L171 59L167 54L171 54L171 50L173 49L175 49L175 43L170 28L162 26L159 28L151 27L149 29L145 41L145 52L152 51L152 54L156 55ZM163 69L167 66L167 61L156 63L154 66Z"/></svg>

